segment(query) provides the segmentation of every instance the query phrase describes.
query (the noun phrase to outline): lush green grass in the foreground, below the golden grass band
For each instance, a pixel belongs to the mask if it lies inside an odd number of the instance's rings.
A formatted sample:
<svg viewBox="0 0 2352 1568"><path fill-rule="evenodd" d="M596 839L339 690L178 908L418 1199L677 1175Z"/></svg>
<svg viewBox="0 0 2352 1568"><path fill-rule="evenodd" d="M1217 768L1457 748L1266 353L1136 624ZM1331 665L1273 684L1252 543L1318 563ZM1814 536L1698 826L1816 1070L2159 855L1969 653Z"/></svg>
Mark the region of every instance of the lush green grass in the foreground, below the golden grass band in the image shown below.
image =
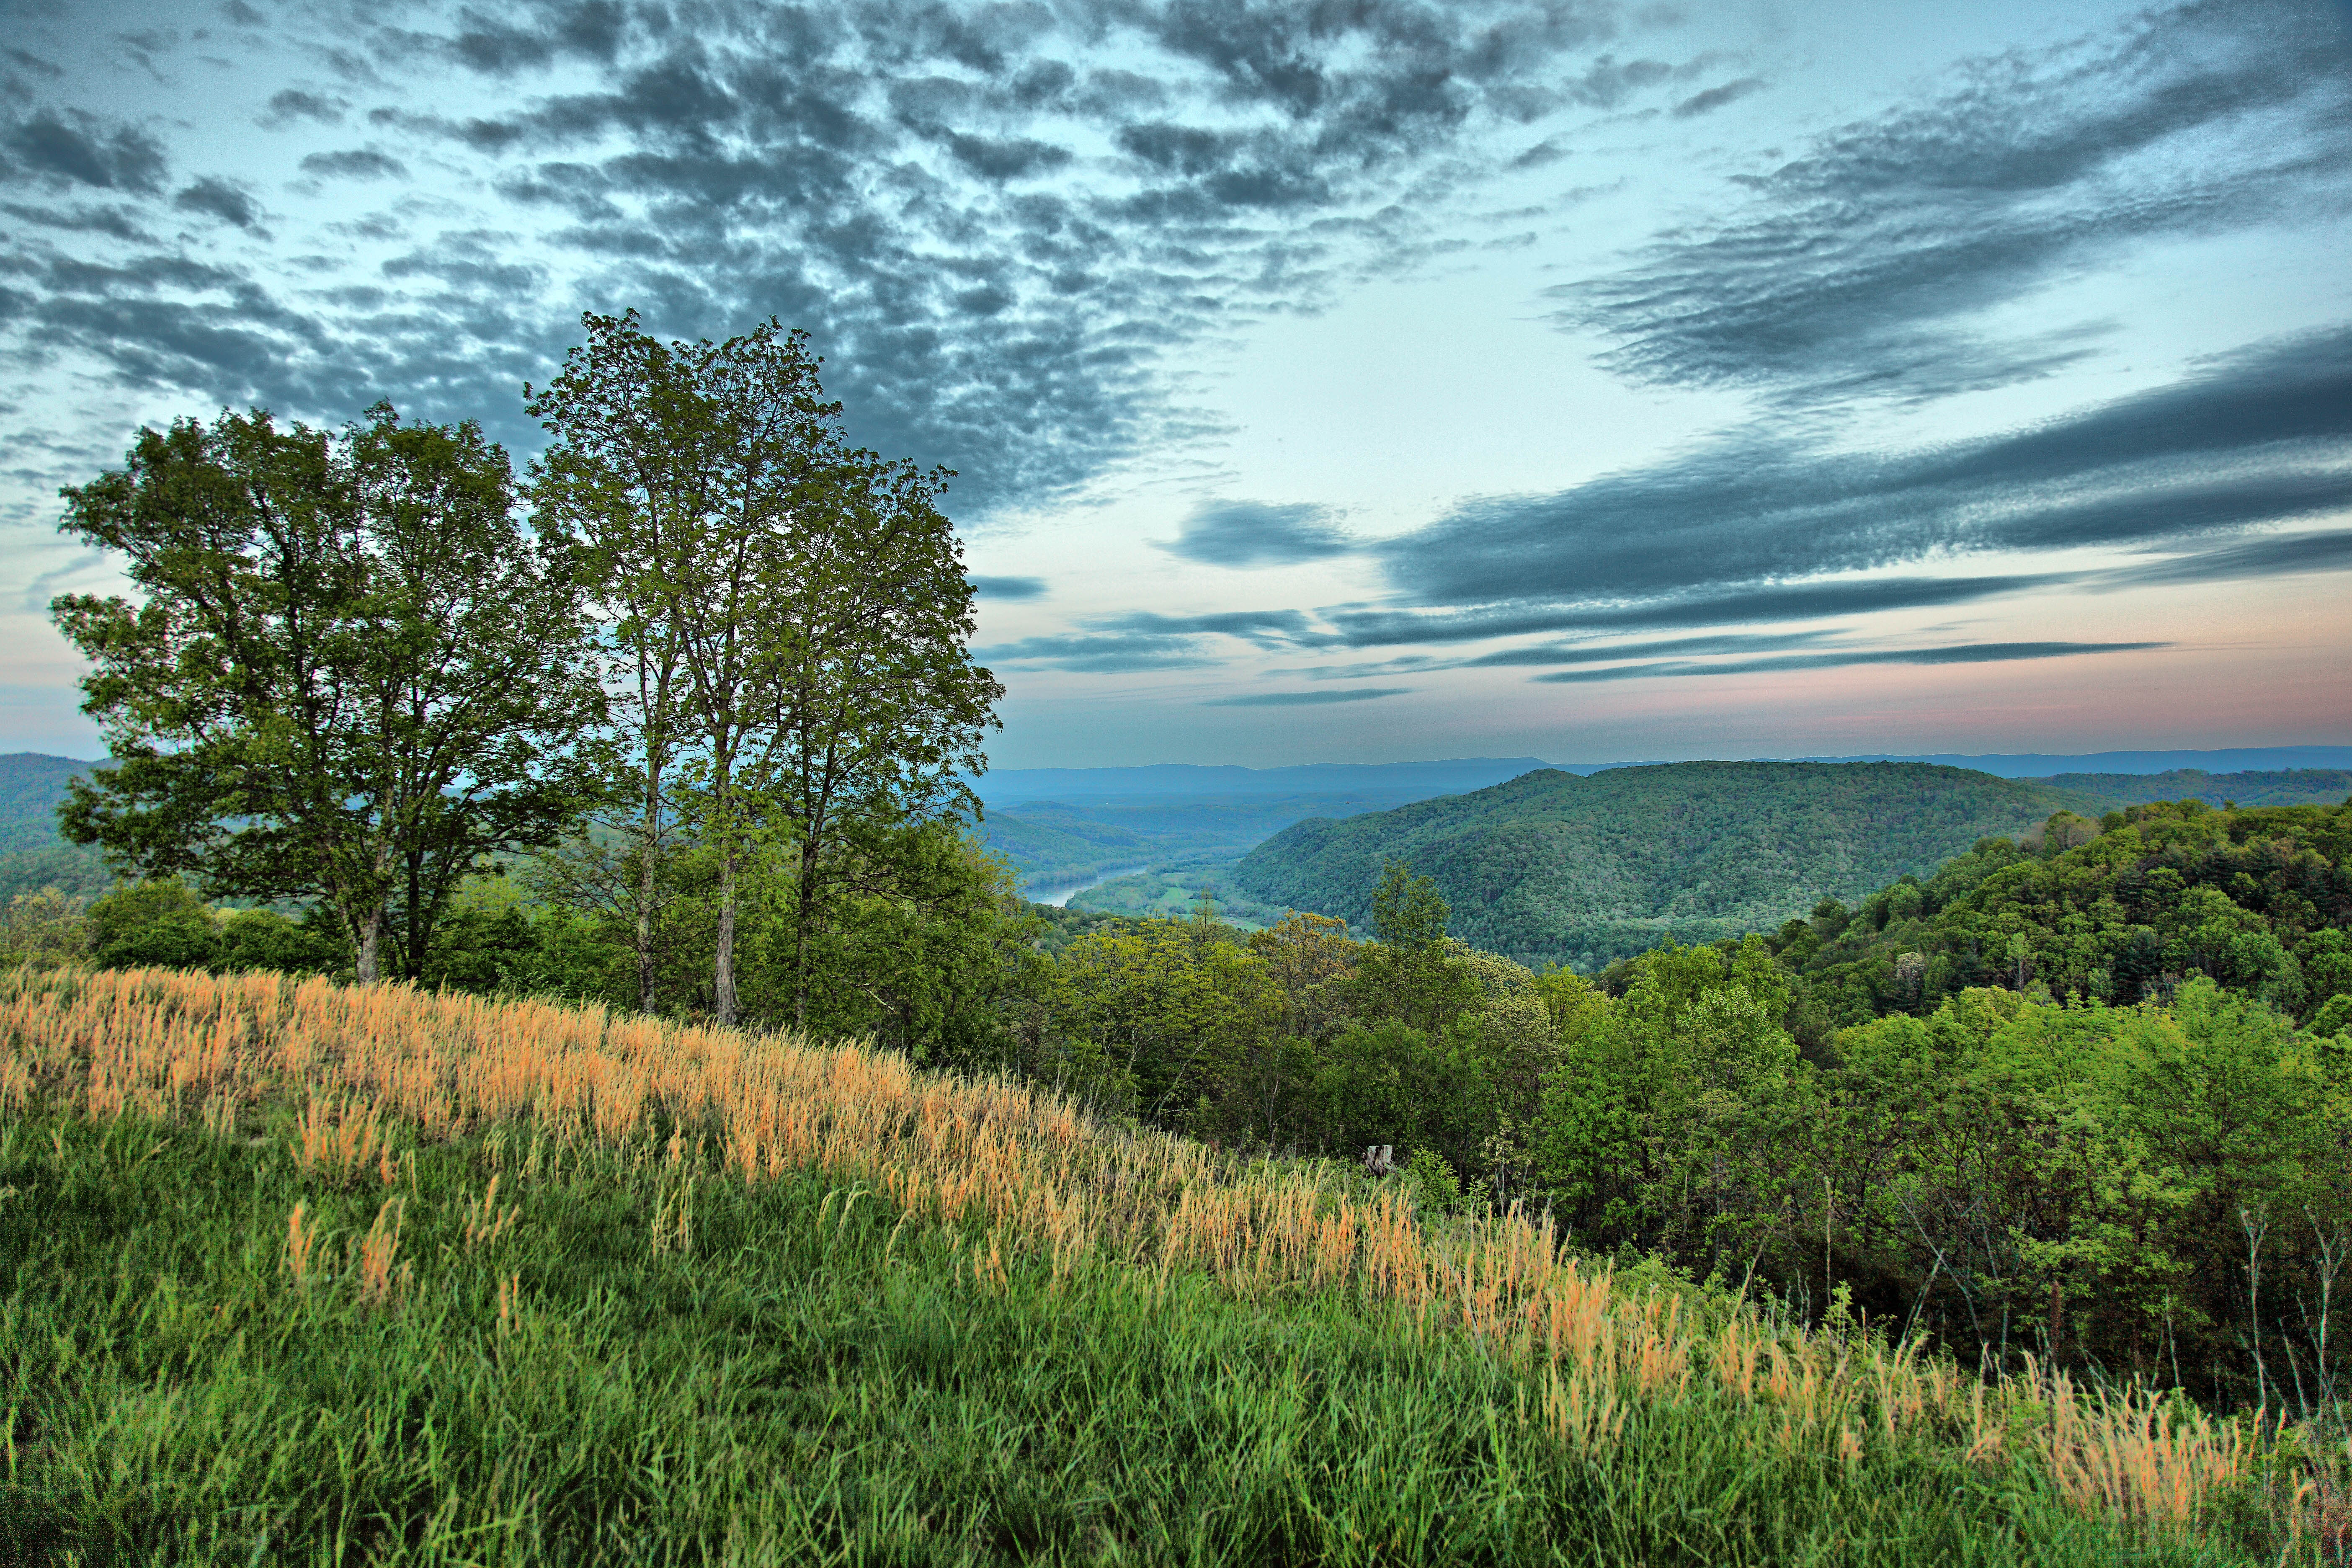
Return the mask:
<svg viewBox="0 0 2352 1568"><path fill-rule="evenodd" d="M1522 1368L1352 1293L997 1284L971 1232L816 1180L689 1190L654 1143L409 1161L414 1276L372 1307L348 1248L386 1190L301 1178L282 1126L0 1128L0 1561L2277 1561L2138 1542L1931 1439L1788 1458L1703 1380L1576 1453ZM492 1175L520 1215L468 1246ZM691 1251L656 1253L682 1204Z"/></svg>

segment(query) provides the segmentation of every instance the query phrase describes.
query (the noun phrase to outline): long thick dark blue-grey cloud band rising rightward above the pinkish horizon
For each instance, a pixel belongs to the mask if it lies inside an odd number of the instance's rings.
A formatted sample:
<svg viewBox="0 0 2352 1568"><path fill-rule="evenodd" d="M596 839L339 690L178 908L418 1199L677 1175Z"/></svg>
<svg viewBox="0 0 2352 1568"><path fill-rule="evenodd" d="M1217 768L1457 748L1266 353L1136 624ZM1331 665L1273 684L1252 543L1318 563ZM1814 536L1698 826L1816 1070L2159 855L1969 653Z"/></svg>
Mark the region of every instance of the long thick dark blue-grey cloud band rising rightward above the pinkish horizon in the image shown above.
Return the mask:
<svg viewBox="0 0 2352 1568"><path fill-rule="evenodd" d="M1867 583L1799 578L1938 555L2194 541L2345 505L2352 327L2333 327L1947 447L1853 451L1743 430L1555 496L1465 503L1381 552L1409 604L1501 604L1468 618L1491 618L1503 635L1555 630L1562 602L1613 602L1602 614L1653 625L1651 609L1726 590L1867 599ZM1973 597L1959 583L1912 588ZM1334 621L1388 637L1411 628L1378 611Z"/></svg>

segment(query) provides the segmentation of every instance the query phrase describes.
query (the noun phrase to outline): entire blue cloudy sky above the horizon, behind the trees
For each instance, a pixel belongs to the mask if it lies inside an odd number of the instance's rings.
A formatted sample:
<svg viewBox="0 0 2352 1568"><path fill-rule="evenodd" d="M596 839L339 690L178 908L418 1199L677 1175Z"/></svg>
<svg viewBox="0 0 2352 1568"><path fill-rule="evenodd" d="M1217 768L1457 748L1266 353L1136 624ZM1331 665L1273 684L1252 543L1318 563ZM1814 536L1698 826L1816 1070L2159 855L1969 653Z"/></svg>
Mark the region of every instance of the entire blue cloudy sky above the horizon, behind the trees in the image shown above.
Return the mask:
<svg viewBox="0 0 2352 1568"><path fill-rule="evenodd" d="M2352 741L2352 5L0 0L0 750L61 484L583 310L957 470L997 766Z"/></svg>

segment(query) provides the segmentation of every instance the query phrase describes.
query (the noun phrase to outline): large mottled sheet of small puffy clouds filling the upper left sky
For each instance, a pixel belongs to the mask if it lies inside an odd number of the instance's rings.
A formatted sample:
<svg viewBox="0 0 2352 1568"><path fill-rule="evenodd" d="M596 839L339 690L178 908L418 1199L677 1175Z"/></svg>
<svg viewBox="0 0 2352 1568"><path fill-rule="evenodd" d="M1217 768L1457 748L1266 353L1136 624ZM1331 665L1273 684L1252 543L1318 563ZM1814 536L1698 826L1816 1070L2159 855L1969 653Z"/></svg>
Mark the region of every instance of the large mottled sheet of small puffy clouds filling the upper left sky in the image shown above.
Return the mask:
<svg viewBox="0 0 2352 1568"><path fill-rule="evenodd" d="M1618 45L1604 0L230 7L207 45L153 33L146 68L235 54L207 94L242 94L348 216L287 233L296 268L172 273L143 235L169 233L148 219L174 167L200 212L252 212L214 148L103 113L89 61L35 61L0 94L0 176L61 202L49 233L118 252L73 268L38 228L0 237L0 357L329 418L383 393L527 449L515 386L583 303L684 336L779 315L814 331L854 435L957 468L971 515L1197 430L1171 353L1432 254L1515 127L1689 89L1693 61ZM430 202L367 207L421 167ZM1176 548L1341 541L1204 512Z"/></svg>

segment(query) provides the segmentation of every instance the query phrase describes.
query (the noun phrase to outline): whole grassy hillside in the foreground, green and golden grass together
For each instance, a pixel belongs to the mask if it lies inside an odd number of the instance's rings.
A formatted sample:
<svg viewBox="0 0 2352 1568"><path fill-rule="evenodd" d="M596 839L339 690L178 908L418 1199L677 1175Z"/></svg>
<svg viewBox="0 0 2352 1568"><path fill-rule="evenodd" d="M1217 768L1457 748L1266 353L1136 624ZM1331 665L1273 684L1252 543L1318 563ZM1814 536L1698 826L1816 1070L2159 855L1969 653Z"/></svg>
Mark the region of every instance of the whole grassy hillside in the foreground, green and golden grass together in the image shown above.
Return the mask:
<svg viewBox="0 0 2352 1568"><path fill-rule="evenodd" d="M2326 1448L891 1056L160 971L0 978L0 1041L7 1561L2331 1544Z"/></svg>

